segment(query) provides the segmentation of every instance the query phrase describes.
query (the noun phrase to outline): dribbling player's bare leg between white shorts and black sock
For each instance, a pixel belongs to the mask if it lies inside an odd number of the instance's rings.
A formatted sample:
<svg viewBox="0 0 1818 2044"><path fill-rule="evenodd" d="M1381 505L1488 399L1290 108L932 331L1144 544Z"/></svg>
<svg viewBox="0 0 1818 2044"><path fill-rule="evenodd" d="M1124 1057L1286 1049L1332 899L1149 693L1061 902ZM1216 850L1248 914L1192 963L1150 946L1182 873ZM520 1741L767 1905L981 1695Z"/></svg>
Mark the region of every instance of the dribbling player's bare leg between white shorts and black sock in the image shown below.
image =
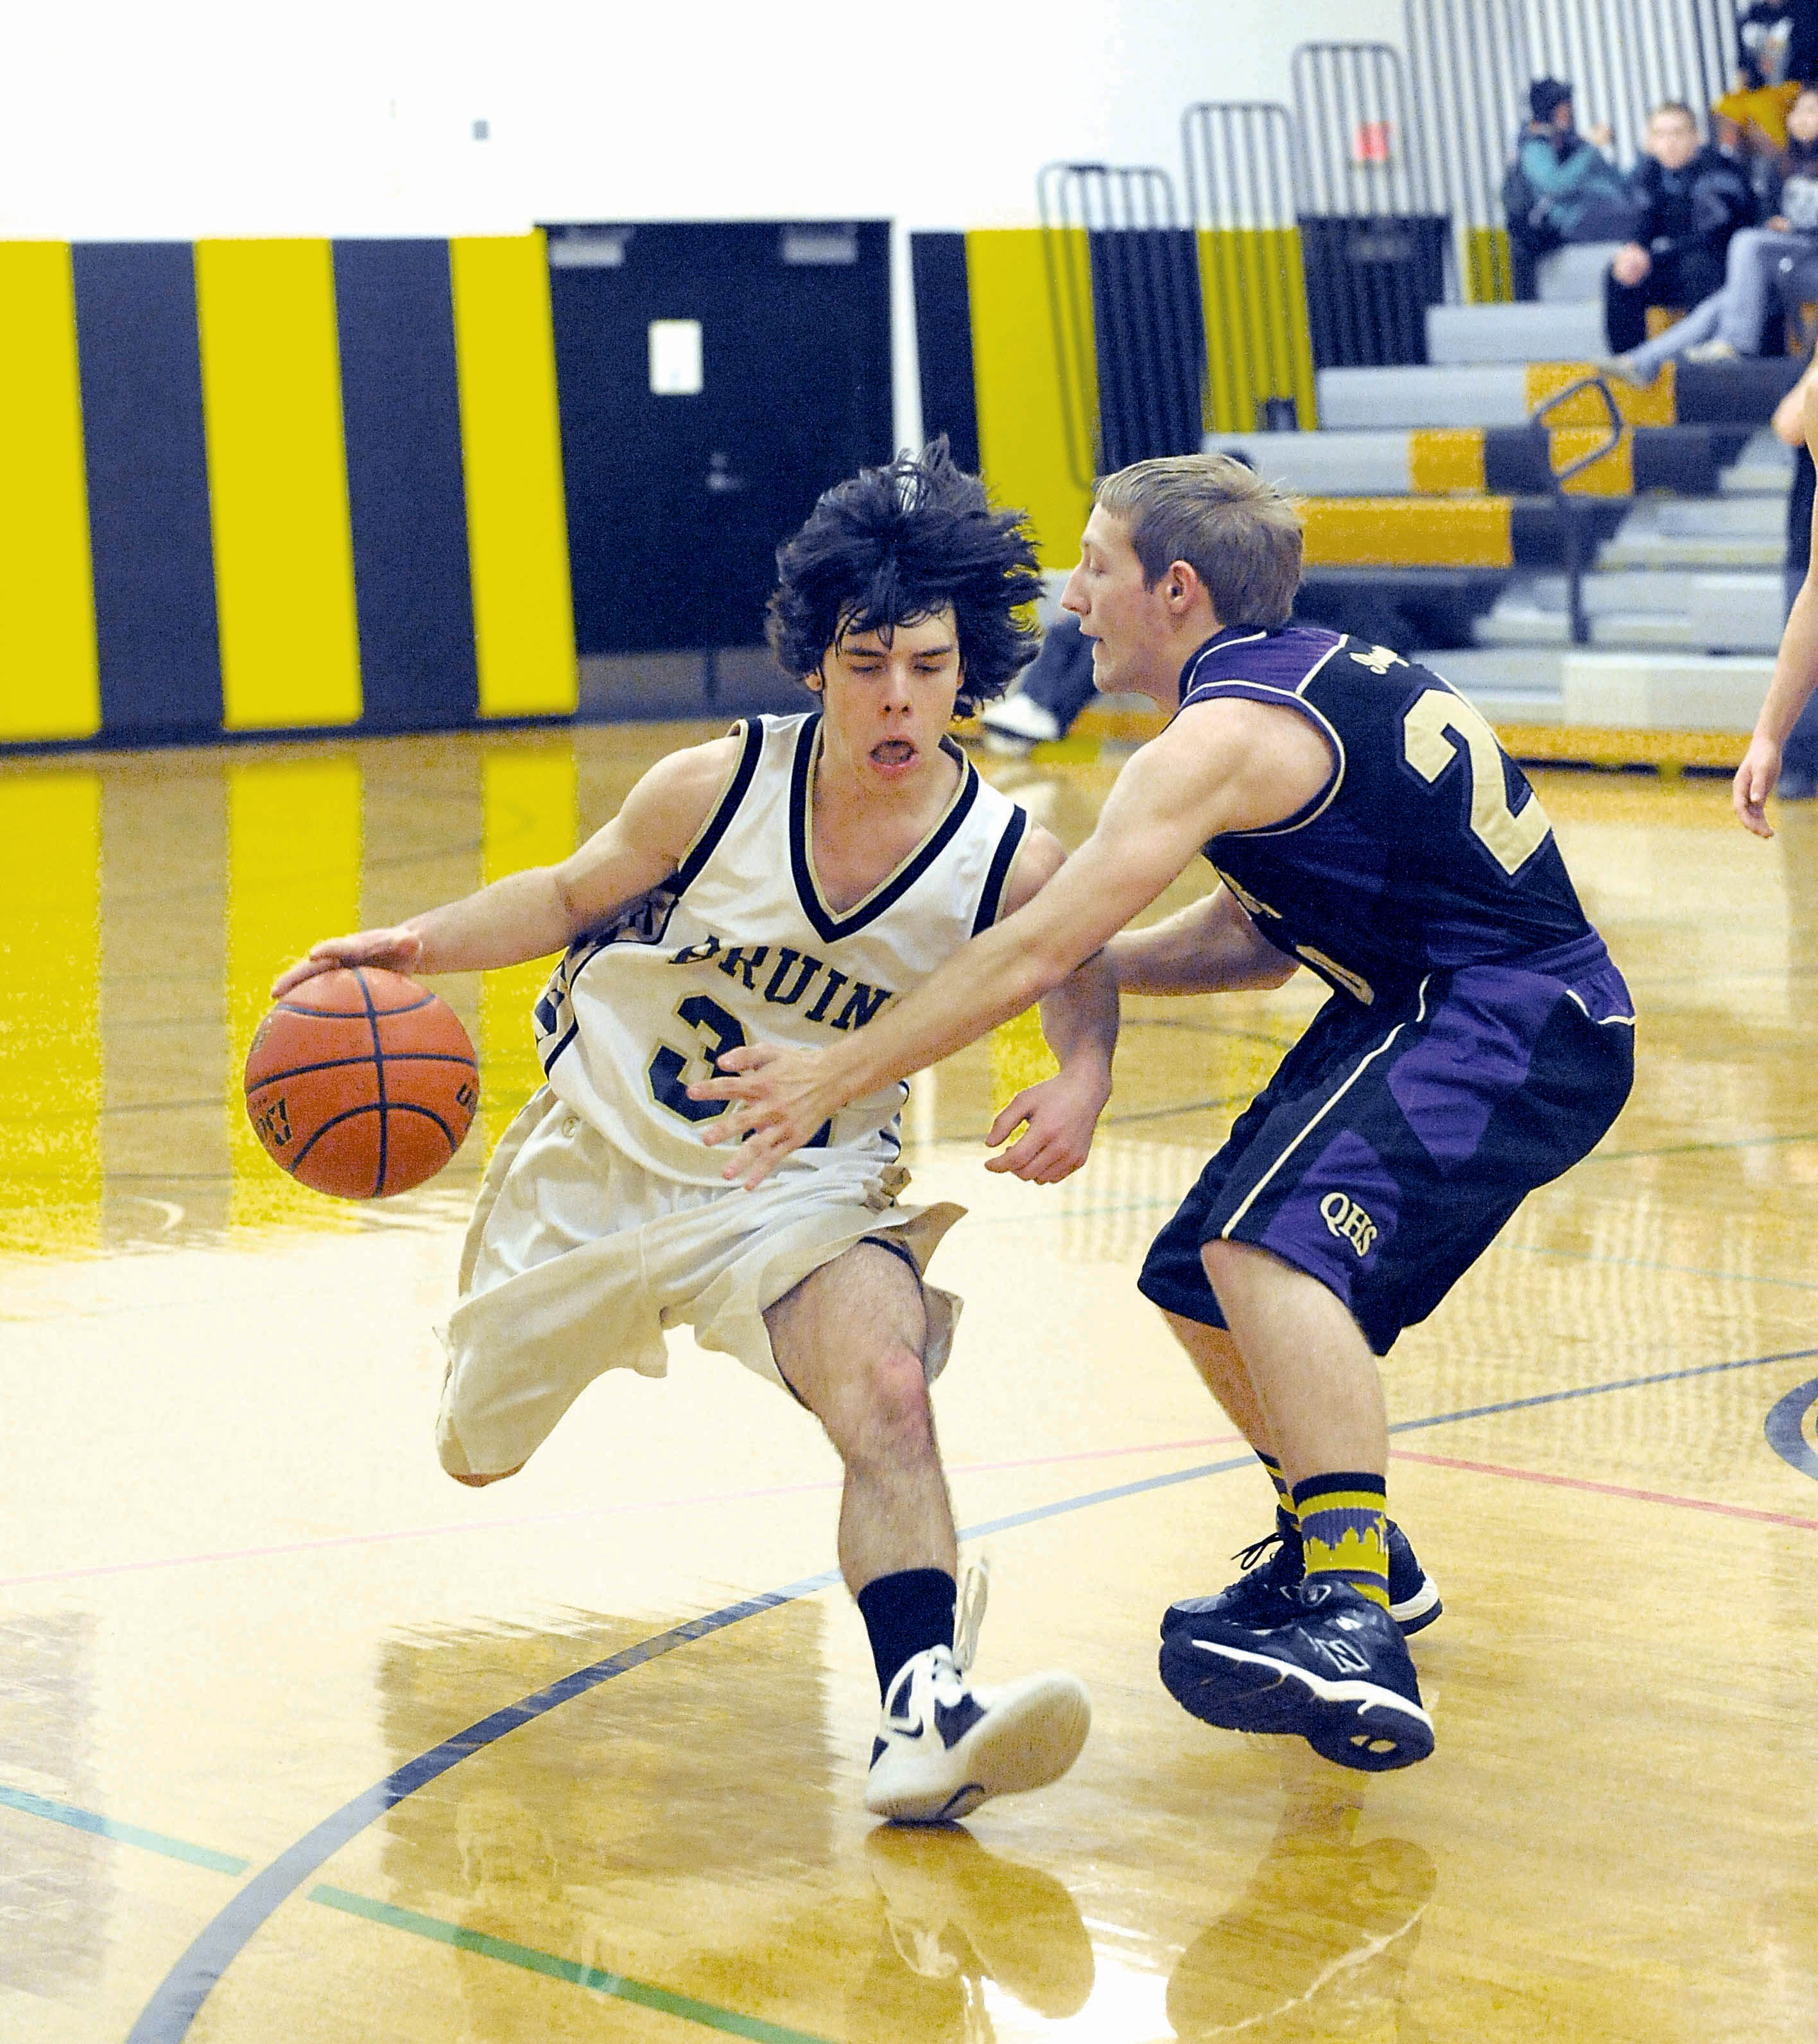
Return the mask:
<svg viewBox="0 0 1818 2044"><path fill-rule="evenodd" d="M910 1568L957 1574L916 1273L888 1249L857 1243L785 1292L765 1327L777 1369L826 1427L847 1470L840 1574L853 1596Z"/></svg>

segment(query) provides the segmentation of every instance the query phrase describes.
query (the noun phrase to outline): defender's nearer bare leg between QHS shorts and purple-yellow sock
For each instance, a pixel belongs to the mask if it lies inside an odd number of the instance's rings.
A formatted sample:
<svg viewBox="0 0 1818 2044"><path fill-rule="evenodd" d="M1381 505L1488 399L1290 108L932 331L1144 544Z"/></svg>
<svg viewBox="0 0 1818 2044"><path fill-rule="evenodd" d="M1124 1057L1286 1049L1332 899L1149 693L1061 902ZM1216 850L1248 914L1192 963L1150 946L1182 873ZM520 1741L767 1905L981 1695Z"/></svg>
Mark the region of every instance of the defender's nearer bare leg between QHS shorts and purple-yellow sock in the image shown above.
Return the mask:
<svg viewBox="0 0 1818 2044"><path fill-rule="evenodd" d="M1331 1470L1382 1476L1389 1470L1382 1378L1339 1298L1266 1249L1207 1243L1202 1255L1288 1484Z"/></svg>

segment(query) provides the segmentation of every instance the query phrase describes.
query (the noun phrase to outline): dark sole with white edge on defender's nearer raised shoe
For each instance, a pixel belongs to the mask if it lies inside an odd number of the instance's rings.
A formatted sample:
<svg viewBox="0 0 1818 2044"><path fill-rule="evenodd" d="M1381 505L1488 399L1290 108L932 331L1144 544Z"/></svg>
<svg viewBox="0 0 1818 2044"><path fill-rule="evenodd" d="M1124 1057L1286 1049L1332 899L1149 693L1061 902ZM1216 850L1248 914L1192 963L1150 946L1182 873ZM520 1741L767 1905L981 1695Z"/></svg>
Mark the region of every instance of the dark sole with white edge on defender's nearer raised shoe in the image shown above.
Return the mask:
<svg viewBox="0 0 1818 2044"><path fill-rule="evenodd" d="M1221 1731L1305 1739L1321 1760L1362 1774L1411 1768L1434 1750L1434 1721L1380 1682L1333 1682L1247 1647L1174 1637L1162 1647L1162 1684L1192 1717Z"/></svg>

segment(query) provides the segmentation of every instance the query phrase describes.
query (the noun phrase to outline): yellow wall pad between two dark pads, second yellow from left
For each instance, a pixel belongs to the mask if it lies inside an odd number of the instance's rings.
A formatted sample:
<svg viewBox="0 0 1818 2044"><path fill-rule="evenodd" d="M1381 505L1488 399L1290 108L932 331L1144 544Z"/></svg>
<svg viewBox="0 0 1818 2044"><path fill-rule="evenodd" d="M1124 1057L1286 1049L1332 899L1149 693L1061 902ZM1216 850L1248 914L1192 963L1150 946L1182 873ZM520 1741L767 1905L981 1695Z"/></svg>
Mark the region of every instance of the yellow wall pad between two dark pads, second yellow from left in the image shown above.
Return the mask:
<svg viewBox="0 0 1818 2044"><path fill-rule="evenodd" d="M327 241L198 241L229 730L352 724L360 632Z"/></svg>

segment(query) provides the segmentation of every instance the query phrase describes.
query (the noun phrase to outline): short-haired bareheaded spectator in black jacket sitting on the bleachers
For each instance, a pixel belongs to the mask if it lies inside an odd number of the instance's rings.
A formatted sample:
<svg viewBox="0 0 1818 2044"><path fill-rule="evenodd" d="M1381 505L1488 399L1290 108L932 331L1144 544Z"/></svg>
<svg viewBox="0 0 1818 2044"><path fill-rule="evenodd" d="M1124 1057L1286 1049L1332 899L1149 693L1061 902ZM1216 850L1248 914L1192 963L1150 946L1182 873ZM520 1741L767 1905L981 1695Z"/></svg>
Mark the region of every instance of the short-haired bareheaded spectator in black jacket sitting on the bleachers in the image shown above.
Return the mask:
<svg viewBox="0 0 1818 2044"><path fill-rule="evenodd" d="M1603 325L1616 356L1648 337L1650 305L1683 311L1720 290L1730 237L1755 219L1748 180L1730 157L1699 143L1697 119L1677 100L1648 117L1630 190L1634 239L1616 251L1603 278Z"/></svg>

